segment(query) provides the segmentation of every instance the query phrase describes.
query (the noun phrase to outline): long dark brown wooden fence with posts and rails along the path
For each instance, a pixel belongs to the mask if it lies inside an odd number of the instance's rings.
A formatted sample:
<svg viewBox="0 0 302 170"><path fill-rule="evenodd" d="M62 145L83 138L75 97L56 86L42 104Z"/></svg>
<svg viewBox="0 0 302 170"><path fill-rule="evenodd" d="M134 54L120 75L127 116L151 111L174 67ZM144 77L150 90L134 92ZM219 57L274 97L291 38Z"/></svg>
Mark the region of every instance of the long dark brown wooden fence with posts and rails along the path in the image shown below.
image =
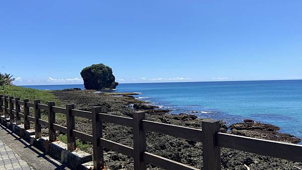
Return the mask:
<svg viewBox="0 0 302 170"><path fill-rule="evenodd" d="M49 129L49 142L56 140L56 131L65 133L67 135L67 149L70 151L76 147L75 138L93 143L95 169L102 169L104 166L103 147L133 157L135 170L146 169L147 163L171 170L198 169L146 152L145 131L202 142L203 169L205 170L220 169L220 147L302 162L302 145L220 133L218 121L203 121L202 130L200 130L147 121L144 112L133 112L132 118L127 118L104 114L101 107L93 107L92 112L87 112L75 110L73 104L66 105L66 108L60 108L56 107L54 102L42 105L39 100L30 103L28 99L20 101L20 98L14 99L3 95L0 95L0 99L0 112L4 112L4 117L10 118L11 123L16 120L16 124L19 125L20 118L23 118L25 130L30 129L30 122L35 123L36 138L41 137L41 125L43 125ZM23 106L23 113L21 113L21 106ZM29 108L34 109L34 117L29 116ZM48 121L41 119L40 110L48 111ZM55 113L66 115L67 127L55 124ZM74 129L75 116L92 120L93 135ZM102 122L133 128L133 148L104 139L102 136Z"/></svg>

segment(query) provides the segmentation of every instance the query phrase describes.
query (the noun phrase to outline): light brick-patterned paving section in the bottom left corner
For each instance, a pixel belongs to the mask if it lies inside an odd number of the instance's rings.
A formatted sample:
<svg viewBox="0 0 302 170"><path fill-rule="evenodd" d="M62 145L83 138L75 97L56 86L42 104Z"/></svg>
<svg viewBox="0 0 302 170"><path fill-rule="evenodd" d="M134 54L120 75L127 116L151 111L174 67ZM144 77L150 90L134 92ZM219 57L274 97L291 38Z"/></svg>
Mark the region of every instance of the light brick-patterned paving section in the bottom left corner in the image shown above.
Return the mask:
<svg viewBox="0 0 302 170"><path fill-rule="evenodd" d="M0 139L0 169L30 170L33 168Z"/></svg>

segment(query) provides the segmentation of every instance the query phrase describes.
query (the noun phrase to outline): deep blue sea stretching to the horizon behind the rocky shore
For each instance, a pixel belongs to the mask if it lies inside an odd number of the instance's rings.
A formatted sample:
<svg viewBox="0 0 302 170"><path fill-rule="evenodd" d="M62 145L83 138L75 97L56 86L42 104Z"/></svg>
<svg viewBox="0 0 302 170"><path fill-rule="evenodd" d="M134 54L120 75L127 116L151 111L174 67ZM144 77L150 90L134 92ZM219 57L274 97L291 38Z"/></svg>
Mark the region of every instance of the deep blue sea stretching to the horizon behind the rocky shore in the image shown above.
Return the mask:
<svg viewBox="0 0 302 170"><path fill-rule="evenodd" d="M84 89L83 84L25 87ZM199 117L227 123L251 118L302 138L302 80L121 83L115 92L139 92L140 100L176 114L198 111Z"/></svg>

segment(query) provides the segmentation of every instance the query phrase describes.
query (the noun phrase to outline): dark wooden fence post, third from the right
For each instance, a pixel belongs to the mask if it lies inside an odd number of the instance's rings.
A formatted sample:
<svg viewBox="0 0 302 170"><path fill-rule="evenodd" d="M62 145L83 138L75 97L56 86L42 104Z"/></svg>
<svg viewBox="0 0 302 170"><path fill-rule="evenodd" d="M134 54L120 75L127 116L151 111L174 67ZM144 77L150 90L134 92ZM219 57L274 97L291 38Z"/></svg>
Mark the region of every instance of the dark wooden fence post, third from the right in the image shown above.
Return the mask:
<svg viewBox="0 0 302 170"><path fill-rule="evenodd" d="M97 170L104 168L103 147L100 142L100 138L103 137L103 130L99 113L102 113L102 107L92 107L93 166Z"/></svg>

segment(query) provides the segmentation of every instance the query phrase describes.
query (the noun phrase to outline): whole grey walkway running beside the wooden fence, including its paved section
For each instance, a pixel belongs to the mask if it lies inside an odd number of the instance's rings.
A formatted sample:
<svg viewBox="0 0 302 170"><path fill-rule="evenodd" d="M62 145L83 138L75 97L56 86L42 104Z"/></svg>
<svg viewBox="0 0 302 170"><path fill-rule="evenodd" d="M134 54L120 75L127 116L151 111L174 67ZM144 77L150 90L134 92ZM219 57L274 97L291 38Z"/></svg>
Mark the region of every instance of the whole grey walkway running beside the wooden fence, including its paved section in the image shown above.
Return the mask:
<svg viewBox="0 0 302 170"><path fill-rule="evenodd" d="M0 169L69 169L0 125Z"/></svg>

